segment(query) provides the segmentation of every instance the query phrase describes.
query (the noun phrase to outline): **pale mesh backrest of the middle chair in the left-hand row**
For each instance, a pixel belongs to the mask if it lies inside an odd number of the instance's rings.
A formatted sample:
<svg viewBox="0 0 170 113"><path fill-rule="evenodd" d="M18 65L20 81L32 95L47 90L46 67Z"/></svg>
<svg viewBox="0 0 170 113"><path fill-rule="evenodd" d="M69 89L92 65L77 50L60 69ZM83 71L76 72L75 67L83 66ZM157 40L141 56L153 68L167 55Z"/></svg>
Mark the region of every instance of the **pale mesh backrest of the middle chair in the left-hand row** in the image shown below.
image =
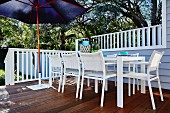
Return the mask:
<svg viewBox="0 0 170 113"><path fill-rule="evenodd" d="M80 69L80 58L78 57L78 53L63 54L62 59L65 69Z"/></svg>

